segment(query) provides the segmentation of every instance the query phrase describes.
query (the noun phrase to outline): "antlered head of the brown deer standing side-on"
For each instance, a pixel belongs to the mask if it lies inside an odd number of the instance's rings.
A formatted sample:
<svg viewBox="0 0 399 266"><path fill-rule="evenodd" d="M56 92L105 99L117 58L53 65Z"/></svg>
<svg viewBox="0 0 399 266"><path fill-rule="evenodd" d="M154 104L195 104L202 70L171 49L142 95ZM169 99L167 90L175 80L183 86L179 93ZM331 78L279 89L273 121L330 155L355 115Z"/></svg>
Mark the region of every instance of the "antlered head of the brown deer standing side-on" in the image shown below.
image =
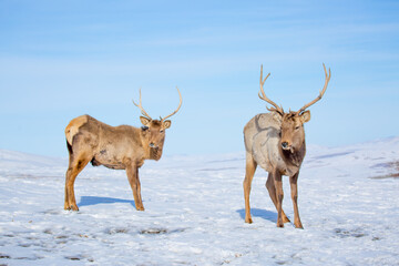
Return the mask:
<svg viewBox="0 0 399 266"><path fill-rule="evenodd" d="M163 145L165 142L165 130L171 127L171 124L172 124L171 120L166 120L166 119L168 119L172 115L174 115L175 113L177 113L177 111L182 106L182 94L178 91L177 86L176 86L176 89L177 89L178 96L180 96L180 103L178 103L177 109L173 113L166 115L165 117L163 117L163 119L160 117L160 120L153 120L150 116L150 114L147 112L145 112L145 110L143 109L142 99L141 99L141 89L140 89L140 103L136 104L133 101L134 105L136 105L141 110L141 113L143 114L142 116L140 116L140 121L143 124L143 126L141 127L142 142L145 147L150 149L150 157L152 157L154 160L161 158Z"/></svg>

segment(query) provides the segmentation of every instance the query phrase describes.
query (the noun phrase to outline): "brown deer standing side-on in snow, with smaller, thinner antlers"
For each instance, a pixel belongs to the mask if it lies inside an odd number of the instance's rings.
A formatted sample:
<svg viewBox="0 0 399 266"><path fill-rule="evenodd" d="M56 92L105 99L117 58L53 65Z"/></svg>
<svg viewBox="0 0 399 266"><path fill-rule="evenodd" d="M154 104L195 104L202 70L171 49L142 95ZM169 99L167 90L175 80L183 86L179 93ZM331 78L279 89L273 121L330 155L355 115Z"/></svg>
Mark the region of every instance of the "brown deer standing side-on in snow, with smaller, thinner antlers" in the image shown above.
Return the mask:
<svg viewBox="0 0 399 266"><path fill-rule="evenodd" d="M64 209L79 211L73 184L78 174L88 165L104 165L109 168L125 170L129 183L133 191L135 207L144 211L139 168L145 160L158 161L165 141L165 130L171 126L166 120L177 113L182 106L182 94L178 91L180 103L177 109L161 120L153 120L142 106L141 90L140 103L136 105L143 116L141 129L104 124L90 115L73 119L65 129L66 146L69 151L69 167L65 175Z"/></svg>

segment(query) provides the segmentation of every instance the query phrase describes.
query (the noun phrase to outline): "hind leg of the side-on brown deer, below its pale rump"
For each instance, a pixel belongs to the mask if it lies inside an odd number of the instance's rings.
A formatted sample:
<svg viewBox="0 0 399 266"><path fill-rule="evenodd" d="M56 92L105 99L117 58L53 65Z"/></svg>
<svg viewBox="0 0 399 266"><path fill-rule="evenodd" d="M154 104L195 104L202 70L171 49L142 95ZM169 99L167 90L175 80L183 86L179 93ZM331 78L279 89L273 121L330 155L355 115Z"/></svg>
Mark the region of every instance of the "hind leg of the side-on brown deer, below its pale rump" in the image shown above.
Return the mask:
<svg viewBox="0 0 399 266"><path fill-rule="evenodd" d="M90 160L81 157L79 160L70 160L70 164L65 174L65 202L64 209L79 211L74 195L74 182L78 174L88 165Z"/></svg>

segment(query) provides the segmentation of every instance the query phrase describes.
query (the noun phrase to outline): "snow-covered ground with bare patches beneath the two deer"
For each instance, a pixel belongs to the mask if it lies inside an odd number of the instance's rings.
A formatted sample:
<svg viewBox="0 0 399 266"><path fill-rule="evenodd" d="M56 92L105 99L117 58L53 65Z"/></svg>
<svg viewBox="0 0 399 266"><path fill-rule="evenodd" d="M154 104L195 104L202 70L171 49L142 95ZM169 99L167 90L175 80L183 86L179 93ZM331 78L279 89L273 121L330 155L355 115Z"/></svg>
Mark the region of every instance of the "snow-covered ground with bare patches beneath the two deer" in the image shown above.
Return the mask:
<svg viewBox="0 0 399 266"><path fill-rule="evenodd" d="M262 168L254 223L244 223L244 160L146 162L145 212L124 171L89 165L75 182L80 211L69 212L66 160L0 150L0 265L399 265L399 137L309 145L299 175L305 229L276 227ZM284 191L293 217L287 178Z"/></svg>

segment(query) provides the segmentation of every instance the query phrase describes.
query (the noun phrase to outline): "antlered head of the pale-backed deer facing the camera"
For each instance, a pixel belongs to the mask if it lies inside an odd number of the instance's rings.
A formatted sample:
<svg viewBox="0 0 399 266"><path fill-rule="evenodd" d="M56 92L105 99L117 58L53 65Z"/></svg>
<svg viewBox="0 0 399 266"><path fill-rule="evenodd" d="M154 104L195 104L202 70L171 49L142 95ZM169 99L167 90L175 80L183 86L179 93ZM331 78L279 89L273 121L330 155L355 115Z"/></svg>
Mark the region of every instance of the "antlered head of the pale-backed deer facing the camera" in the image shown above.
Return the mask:
<svg viewBox="0 0 399 266"><path fill-rule="evenodd" d="M310 120L310 111L306 111L306 109L308 109L310 105L315 104L317 101L319 101L323 98L323 95L326 92L328 82L331 78L331 71L328 69L328 74L327 74L326 65L323 64L323 66L326 74L326 81L319 95L311 102L305 104L297 112L289 111L288 113L285 113L282 106L278 106L275 102L273 102L270 99L266 96L263 86L266 82L266 79L270 75L270 73L268 73L266 78L263 79L263 65L260 65L260 91L258 95L262 100L273 105L273 108L266 106L268 111L276 112L279 115L282 115L280 147L285 152L294 153L296 151L299 151L305 144L304 123Z"/></svg>

